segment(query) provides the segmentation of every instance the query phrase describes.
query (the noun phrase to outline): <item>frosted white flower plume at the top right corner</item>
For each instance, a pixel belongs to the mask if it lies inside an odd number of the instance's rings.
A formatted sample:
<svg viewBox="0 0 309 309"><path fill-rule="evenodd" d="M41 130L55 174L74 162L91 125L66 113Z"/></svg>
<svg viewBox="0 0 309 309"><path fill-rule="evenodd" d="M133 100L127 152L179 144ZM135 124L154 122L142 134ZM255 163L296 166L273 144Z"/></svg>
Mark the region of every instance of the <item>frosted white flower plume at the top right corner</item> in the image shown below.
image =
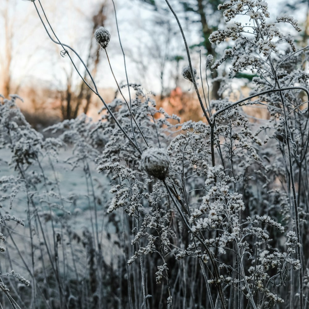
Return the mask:
<svg viewBox="0 0 309 309"><path fill-rule="evenodd" d="M269 12L266 2L231 0L220 4L218 8L225 10L223 16L227 24L223 30L214 31L209 40L220 44L232 39L235 44L224 51L222 57L212 66L213 68L217 68L223 61L233 57L232 72L237 73L242 69L259 71L265 65L265 58L270 57L272 53L279 52L277 45L280 42L287 42L295 50L293 39L289 34L283 35L276 27L276 23L290 23L297 31L300 31L297 20L283 14L277 17L275 23L267 23ZM237 18L237 15L247 15L252 24L243 25L238 21L231 22L232 19Z"/></svg>

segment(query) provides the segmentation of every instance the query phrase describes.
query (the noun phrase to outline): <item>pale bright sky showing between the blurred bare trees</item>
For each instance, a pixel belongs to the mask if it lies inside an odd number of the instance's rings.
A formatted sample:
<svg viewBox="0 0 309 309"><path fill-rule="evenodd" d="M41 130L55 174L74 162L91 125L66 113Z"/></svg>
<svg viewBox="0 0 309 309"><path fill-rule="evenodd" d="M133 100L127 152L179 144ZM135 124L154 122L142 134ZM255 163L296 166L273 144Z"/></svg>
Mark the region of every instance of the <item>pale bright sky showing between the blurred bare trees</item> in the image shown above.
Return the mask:
<svg viewBox="0 0 309 309"><path fill-rule="evenodd" d="M160 15L156 15L157 13L146 9L146 5L141 4L138 0L114 1L122 45L126 53L129 82L142 83L148 90L158 92L160 91L160 82L158 62L154 60L155 55L158 53L155 42L160 45L164 44L166 34L159 28L154 28L153 21L160 16L163 20L170 20L174 24L175 19L170 12L164 14L160 12ZM14 37L11 67L12 80L15 83L22 84L44 82L52 87L59 87L65 79L64 70L70 70L72 67L69 58L67 56L61 57L59 54L61 49L49 40L31 1L9 0L8 2L10 6L9 20L12 23ZM89 19L99 2L98 0L80 0L78 2L73 0L54 0L52 2L41 0L49 22L58 38L61 42L76 49L82 58L85 57L84 50L87 50L90 40L94 40L87 19ZM162 2L164 1L162 0ZM171 1L171 4L173 2L175 3L175 1ZM112 1L106 0L106 3L109 8L107 11L108 19L104 26L108 28L112 36L107 50L116 77L121 82L125 79L123 57L116 34ZM273 18L275 18L278 7L282 2L277 0L271 1L271 3L269 11L274 13ZM38 1L36 1L36 4L39 6ZM303 12L299 12L299 16L295 16L300 22L306 17L301 16L302 14ZM196 24L184 25L189 45L198 41L200 33L197 27ZM0 43L2 43L4 40L4 23L1 18L0 33ZM177 48L183 49L179 32L173 35L170 43L169 49L171 53L175 54ZM163 50L165 49L163 48ZM101 60L96 82L100 87L116 87L106 61L105 52L101 52L104 53L104 56ZM0 53L4 57L3 49ZM180 50L179 53L185 56L183 50ZM198 54L193 55L193 59L198 58ZM138 65L137 61L140 61ZM165 84L173 87L168 76L175 68L170 66L166 70ZM74 74L78 78L77 74Z"/></svg>

